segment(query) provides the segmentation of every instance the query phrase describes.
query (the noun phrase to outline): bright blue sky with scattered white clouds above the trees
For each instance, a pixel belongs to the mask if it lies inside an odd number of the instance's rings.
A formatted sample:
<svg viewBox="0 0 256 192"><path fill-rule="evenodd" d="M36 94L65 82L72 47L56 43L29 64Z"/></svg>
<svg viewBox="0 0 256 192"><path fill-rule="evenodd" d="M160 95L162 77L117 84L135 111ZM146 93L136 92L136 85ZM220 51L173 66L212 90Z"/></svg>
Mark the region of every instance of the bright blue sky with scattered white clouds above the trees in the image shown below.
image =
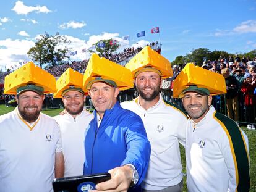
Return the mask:
<svg viewBox="0 0 256 192"><path fill-rule="evenodd" d="M104 38L122 47L160 41L162 54L173 61L192 49L229 53L256 49L256 1L0 1L0 69L29 61L28 50L38 35L59 32L78 54ZM151 28L159 27L159 34ZM145 36L136 34L145 30ZM122 36L130 36L129 41Z"/></svg>

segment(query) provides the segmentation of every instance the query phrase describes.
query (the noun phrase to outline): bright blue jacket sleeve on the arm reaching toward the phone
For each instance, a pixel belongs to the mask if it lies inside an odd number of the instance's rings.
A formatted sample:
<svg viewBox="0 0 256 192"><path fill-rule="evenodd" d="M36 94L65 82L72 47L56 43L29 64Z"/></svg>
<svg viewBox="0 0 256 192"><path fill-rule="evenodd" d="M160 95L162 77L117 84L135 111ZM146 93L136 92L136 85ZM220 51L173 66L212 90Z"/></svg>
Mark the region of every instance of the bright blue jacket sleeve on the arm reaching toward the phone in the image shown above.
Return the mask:
<svg viewBox="0 0 256 192"><path fill-rule="evenodd" d="M139 175L137 185L142 183L148 169L148 162L150 159L150 142L147 139L142 119L139 115L132 115L127 117L128 127L126 130L126 159L121 165L132 164Z"/></svg>

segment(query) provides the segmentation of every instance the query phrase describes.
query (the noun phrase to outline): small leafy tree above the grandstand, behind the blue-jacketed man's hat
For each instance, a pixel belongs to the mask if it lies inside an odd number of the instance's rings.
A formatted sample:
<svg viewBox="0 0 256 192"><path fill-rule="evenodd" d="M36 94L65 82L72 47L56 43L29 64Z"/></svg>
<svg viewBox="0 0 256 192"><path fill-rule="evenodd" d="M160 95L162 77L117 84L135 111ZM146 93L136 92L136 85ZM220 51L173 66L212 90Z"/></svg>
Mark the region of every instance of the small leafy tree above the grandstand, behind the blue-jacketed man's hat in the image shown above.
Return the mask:
<svg viewBox="0 0 256 192"><path fill-rule="evenodd" d="M99 55L102 56L110 56L115 52L119 47L120 44L117 40L108 39L108 40L100 40L97 43L93 44L96 48L96 51L99 53ZM95 52L91 51L90 52Z"/></svg>

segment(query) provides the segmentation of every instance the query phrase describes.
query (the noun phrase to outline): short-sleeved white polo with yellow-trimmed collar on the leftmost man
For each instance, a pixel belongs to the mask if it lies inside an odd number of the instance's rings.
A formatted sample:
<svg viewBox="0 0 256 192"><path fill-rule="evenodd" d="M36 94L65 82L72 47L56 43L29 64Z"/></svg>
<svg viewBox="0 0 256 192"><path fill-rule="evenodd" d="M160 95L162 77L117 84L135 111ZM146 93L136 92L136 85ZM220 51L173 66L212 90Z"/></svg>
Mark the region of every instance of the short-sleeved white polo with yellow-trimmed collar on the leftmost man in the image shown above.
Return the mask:
<svg viewBox="0 0 256 192"><path fill-rule="evenodd" d="M55 152L61 152L59 126L40 113L30 128L17 108L0 116L0 191L53 191Z"/></svg>

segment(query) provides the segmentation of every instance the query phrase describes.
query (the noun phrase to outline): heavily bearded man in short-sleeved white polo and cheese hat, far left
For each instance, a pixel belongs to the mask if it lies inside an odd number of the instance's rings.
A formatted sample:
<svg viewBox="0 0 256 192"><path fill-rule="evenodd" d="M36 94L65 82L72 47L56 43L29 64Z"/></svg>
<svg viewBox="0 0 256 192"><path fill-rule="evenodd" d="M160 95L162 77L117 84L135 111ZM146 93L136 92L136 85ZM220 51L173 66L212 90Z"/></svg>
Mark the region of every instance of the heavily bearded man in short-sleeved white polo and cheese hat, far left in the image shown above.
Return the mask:
<svg viewBox="0 0 256 192"><path fill-rule="evenodd" d="M32 64L7 75L4 81L5 94L15 93L18 106L0 117L1 192L53 191L53 179L64 173L59 126L40 112L44 93L56 90L55 78L42 69L37 71L48 80L39 85L38 73L25 75L32 78L27 85L19 85L13 78L22 77L25 70L33 68Z"/></svg>

